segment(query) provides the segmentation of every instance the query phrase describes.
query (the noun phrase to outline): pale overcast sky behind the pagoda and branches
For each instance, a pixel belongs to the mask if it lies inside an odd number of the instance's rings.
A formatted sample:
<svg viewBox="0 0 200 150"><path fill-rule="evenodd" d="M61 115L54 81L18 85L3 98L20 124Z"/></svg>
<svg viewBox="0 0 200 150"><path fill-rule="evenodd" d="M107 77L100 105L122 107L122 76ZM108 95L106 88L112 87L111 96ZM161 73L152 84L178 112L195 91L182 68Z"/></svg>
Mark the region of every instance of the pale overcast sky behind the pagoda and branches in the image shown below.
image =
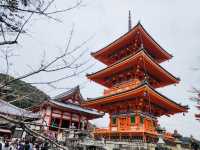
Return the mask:
<svg viewBox="0 0 200 150"><path fill-rule="evenodd" d="M58 17L63 22L58 23L46 18L35 17L27 26L29 34L23 36L20 45L17 46L18 57L12 59L14 75L27 72L27 65L36 67L42 58L43 51L47 57L53 58L58 55L65 47L65 41L69 31L74 24L75 32L73 36L73 46L78 45L90 37L93 37L86 46L88 52L82 60L90 61L88 64L95 63L95 66L87 73L95 72L103 67L90 57L90 52L99 50L113 40L117 39L128 30L128 10L132 11L133 25L140 20L141 24L150 35L174 57L162 64L175 76L181 78L179 85L171 85L163 89L158 89L170 99L190 106L190 111L185 116L177 114L172 117L162 117L159 119L162 126L167 130L178 131L185 135L191 134L200 138L200 123L194 118L197 111L194 104L190 102L192 95L191 88L200 88L200 72L192 68L200 67L200 12L199 0L83 0L84 6L60 14ZM70 6L69 2L59 1L57 8ZM63 72L61 73L63 74ZM46 81L59 76L38 75L26 81ZM71 80L58 83L60 87L73 87L81 84L82 94L86 97L96 97L102 95L103 88L94 82L88 82L85 74ZM48 92L51 96L63 90L54 90L46 86L38 86ZM106 127L108 117L94 121L98 126Z"/></svg>

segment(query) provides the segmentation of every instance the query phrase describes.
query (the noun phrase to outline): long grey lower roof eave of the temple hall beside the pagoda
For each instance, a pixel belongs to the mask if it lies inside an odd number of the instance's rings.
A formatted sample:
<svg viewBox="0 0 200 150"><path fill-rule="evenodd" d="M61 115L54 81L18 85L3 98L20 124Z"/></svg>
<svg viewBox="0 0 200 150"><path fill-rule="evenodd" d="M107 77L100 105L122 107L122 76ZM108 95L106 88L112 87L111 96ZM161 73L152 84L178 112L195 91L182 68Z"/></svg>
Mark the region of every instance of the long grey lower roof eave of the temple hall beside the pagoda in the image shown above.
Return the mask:
<svg viewBox="0 0 200 150"><path fill-rule="evenodd" d="M83 108L78 104L64 103L64 102L60 102L60 101L56 101L56 100L48 100L48 101L44 102L43 105L45 105L45 104L51 105L51 106L61 109L63 111L68 110L68 111L72 111L72 112L76 112L76 113L85 114L87 116L91 116L92 118L102 117L102 115L103 115L94 109Z"/></svg>

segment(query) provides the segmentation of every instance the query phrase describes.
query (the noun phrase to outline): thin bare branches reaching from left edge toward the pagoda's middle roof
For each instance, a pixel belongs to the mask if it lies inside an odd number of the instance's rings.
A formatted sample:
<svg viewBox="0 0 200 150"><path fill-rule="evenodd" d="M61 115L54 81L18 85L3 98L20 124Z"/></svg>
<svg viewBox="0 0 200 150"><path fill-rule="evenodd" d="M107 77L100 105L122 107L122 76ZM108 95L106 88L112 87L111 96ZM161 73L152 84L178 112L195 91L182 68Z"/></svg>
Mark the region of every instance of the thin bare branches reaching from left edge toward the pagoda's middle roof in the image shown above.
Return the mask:
<svg viewBox="0 0 200 150"><path fill-rule="evenodd" d="M73 35L73 30L70 33L70 37L67 41L67 46L63 50L62 54L56 56L55 58L53 58L50 61L46 60L45 54L44 54L42 60L40 60L40 64L39 64L38 68L36 68L36 69L31 68L32 70L30 72L28 72L27 74L15 77L14 79L10 79L10 80L7 79L4 81L0 81L0 89L4 88L5 86L8 86L9 84L15 82L16 80L22 80L22 79L31 77L36 74L40 74L40 73L51 74L51 73L55 73L55 72L63 71L63 70L67 71L68 72L67 75L61 76L60 78L56 78L51 81L49 81L47 79L46 81L29 83L29 84L34 84L34 85L46 84L51 87L55 87L54 83L77 76L81 73L84 73L87 69L91 68L93 66L93 64L88 65L88 60L80 62L80 59L87 52L87 49L82 50L81 53L76 55L76 52L81 51L82 46L85 45L90 39L85 40L81 44L77 45L75 48L69 50L69 45L72 40L72 35ZM9 54L9 51L2 51L2 54L3 54L2 58L6 62L6 73L9 74L9 58L14 56L14 54L12 54L12 53ZM73 55L73 54L75 54L75 55Z"/></svg>

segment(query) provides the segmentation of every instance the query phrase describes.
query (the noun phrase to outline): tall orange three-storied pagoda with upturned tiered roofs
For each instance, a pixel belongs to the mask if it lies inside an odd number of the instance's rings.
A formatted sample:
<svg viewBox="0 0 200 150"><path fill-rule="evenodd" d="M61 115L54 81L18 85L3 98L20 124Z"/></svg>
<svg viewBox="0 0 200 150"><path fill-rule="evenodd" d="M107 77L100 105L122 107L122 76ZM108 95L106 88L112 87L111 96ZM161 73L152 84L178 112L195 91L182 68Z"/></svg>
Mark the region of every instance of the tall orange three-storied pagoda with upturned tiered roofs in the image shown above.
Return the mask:
<svg viewBox="0 0 200 150"><path fill-rule="evenodd" d="M96 138L155 142L158 117L187 112L187 106L155 90L177 84L180 79L160 66L172 55L159 46L140 23L92 56L107 67L87 77L107 89L102 97L90 99L83 106L104 111L110 117L108 128L95 129ZM167 133L164 137L173 138Z"/></svg>

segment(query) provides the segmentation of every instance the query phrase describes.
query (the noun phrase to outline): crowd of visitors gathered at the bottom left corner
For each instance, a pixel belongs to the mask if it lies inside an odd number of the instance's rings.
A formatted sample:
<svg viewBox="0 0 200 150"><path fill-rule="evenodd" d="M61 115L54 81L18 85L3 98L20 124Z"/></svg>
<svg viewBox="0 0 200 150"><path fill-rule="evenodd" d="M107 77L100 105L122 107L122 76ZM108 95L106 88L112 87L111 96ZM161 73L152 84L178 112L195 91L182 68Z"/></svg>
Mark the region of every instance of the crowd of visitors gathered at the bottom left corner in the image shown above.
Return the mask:
<svg viewBox="0 0 200 150"><path fill-rule="evenodd" d="M18 139L9 141L0 138L0 150L49 150L49 143Z"/></svg>

